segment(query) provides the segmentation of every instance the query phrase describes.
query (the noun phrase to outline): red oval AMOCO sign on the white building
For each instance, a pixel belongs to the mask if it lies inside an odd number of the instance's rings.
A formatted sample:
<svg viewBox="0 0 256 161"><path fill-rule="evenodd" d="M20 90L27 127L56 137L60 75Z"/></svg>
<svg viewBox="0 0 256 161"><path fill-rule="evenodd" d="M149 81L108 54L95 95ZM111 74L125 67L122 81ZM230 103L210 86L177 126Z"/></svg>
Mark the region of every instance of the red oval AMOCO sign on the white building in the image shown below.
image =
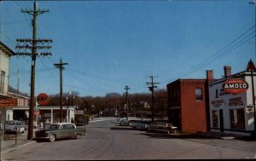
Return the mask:
<svg viewBox="0 0 256 161"><path fill-rule="evenodd" d="M242 92L246 92L248 87L249 85L245 80L238 79L238 78L232 78L232 79L226 80L223 83L224 91L230 94L240 94Z"/></svg>

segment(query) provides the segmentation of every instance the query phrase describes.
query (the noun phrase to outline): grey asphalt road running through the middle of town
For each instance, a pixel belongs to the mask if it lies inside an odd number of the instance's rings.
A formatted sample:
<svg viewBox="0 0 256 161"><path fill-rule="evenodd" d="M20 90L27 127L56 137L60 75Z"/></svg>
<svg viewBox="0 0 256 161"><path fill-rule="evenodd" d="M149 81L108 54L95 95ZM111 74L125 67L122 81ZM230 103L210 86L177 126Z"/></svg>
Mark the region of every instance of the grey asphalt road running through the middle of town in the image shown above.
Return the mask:
<svg viewBox="0 0 256 161"><path fill-rule="evenodd" d="M86 125L82 139L34 142L3 160L143 160L254 158L256 141L177 138L127 129L110 121Z"/></svg>

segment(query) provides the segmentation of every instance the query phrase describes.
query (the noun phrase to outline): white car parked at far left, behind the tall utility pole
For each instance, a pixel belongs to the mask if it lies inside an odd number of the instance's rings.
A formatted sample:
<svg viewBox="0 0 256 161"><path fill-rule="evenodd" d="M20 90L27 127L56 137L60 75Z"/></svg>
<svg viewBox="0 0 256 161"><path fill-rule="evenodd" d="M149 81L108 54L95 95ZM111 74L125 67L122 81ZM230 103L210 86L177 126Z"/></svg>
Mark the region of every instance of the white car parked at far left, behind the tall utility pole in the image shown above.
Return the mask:
<svg viewBox="0 0 256 161"><path fill-rule="evenodd" d="M8 120L5 121L5 133L24 133L26 130L25 122L19 120Z"/></svg>

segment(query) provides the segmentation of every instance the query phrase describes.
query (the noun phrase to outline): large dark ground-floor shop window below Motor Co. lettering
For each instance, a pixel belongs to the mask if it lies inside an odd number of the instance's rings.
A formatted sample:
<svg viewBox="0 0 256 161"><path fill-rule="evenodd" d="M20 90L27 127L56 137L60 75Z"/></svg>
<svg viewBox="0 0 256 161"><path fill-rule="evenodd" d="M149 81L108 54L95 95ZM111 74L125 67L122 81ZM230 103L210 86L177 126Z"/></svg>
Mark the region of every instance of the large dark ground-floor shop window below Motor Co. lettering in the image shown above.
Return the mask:
<svg viewBox="0 0 256 161"><path fill-rule="evenodd" d="M245 129L244 109L230 110L230 128Z"/></svg>

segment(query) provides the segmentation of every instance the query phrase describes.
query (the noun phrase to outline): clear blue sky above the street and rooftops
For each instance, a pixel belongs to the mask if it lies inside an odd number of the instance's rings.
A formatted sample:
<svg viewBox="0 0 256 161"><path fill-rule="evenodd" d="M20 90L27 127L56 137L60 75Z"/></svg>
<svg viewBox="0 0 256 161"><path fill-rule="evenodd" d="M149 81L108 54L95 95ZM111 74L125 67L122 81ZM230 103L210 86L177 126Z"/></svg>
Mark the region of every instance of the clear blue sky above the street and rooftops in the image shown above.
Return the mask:
<svg viewBox="0 0 256 161"><path fill-rule="evenodd" d="M214 78L242 72L255 63L253 0L38 1L38 38L53 40L53 54L38 57L36 95L60 92L60 72L67 62L63 92L104 96L149 93L154 76L158 89L178 78ZM32 1L0 3L1 41L15 52L16 38L32 38ZM13 56L9 85L30 94L31 57Z"/></svg>

